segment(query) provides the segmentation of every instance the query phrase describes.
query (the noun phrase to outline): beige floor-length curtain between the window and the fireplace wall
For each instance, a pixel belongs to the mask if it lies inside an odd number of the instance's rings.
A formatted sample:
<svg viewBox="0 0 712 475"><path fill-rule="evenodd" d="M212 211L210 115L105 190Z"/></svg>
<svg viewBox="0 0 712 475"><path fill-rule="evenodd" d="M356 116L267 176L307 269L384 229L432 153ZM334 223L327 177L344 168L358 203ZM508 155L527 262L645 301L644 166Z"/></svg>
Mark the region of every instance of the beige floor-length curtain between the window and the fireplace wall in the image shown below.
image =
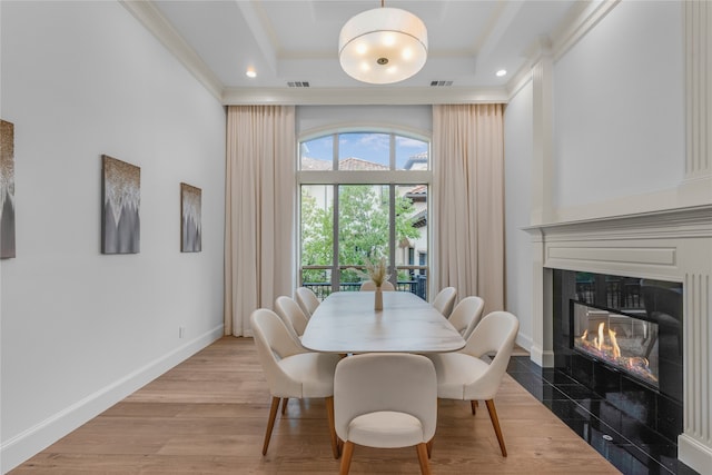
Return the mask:
<svg viewBox="0 0 712 475"><path fill-rule="evenodd" d="M503 108L433 107L435 288L504 309Z"/></svg>

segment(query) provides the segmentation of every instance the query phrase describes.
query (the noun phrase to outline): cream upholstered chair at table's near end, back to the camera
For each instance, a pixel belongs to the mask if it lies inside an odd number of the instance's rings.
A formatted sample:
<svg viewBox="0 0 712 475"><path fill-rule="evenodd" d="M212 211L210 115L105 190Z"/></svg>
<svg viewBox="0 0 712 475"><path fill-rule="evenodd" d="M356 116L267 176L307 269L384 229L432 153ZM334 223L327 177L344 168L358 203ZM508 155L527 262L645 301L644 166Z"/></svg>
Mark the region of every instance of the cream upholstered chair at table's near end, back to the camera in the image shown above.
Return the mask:
<svg viewBox="0 0 712 475"><path fill-rule="evenodd" d="M336 366L334 422L344 442L340 474L348 473L354 446L415 446L423 474L437 424L433 364L404 353L349 356Z"/></svg>

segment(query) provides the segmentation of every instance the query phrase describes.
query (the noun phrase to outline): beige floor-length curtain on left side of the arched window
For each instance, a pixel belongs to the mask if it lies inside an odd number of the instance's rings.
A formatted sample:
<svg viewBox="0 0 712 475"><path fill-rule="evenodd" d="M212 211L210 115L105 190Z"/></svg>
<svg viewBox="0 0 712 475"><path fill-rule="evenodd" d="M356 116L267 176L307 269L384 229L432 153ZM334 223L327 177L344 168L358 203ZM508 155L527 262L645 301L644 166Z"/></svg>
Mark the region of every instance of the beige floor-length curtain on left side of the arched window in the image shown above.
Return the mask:
<svg viewBox="0 0 712 475"><path fill-rule="evenodd" d="M294 106L230 106L225 185L225 334L291 295L295 275Z"/></svg>

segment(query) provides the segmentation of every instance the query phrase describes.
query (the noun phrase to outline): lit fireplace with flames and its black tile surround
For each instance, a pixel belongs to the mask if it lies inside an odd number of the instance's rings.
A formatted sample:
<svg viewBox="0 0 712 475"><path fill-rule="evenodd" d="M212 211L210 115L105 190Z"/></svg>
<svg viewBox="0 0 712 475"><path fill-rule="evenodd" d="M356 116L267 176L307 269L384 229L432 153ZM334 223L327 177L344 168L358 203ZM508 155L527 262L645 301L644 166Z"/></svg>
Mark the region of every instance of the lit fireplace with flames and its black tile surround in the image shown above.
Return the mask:
<svg viewBox="0 0 712 475"><path fill-rule="evenodd" d="M675 442L683 429L682 284L553 270L554 366Z"/></svg>

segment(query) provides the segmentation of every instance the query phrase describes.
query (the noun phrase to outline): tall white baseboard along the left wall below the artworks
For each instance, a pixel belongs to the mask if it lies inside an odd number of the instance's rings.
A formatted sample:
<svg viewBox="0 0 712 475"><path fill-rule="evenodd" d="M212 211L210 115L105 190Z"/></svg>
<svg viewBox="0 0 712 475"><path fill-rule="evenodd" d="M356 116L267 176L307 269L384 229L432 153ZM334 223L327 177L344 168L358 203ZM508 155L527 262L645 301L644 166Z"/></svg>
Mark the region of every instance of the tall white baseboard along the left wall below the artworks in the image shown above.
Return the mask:
<svg viewBox="0 0 712 475"><path fill-rule="evenodd" d="M0 447L0 471L3 474L8 473L174 366L221 338L222 331L222 325L206 331L6 441Z"/></svg>

